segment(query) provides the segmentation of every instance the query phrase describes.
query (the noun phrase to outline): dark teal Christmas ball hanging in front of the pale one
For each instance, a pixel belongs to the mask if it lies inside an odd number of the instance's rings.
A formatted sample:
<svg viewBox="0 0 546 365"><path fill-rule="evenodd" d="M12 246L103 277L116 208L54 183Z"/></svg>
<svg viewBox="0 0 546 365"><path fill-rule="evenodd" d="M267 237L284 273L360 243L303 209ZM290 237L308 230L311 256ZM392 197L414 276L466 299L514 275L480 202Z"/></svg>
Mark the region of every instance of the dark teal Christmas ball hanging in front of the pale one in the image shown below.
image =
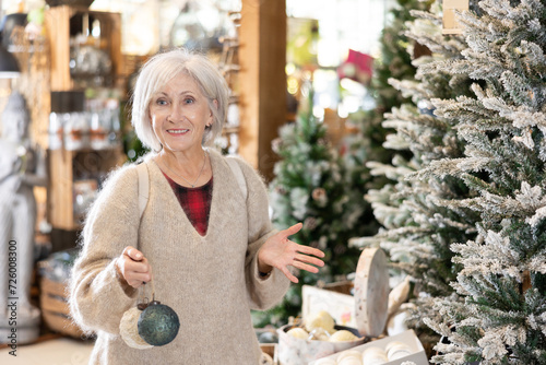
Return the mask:
<svg viewBox="0 0 546 365"><path fill-rule="evenodd" d="M139 335L154 346L163 346L178 334L180 321L169 306L153 301L147 304L139 318Z"/></svg>

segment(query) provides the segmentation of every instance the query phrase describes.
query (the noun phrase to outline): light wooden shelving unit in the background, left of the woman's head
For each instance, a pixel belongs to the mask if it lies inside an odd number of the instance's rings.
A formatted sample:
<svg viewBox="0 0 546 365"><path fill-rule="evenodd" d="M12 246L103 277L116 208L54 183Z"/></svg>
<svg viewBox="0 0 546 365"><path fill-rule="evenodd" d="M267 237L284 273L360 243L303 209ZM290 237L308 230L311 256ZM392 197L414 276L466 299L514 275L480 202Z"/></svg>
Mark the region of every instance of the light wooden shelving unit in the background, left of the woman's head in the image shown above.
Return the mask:
<svg viewBox="0 0 546 365"><path fill-rule="evenodd" d="M90 11L87 8L71 5L52 7L46 10L45 27L51 55L51 93L56 93L57 96L59 93L63 95L69 92L83 93L88 83L95 82L92 79L94 70L90 71L90 78L71 73L71 68L74 68L73 56L71 60L73 47L85 46L96 54L107 55L111 63L110 73L103 84L96 86L115 89L120 81L123 81L119 13ZM99 32L94 32L97 30ZM75 107L68 105L67 110L56 110L58 105L51 107L51 111L56 113L83 111L83 103L79 103ZM64 105L61 109L63 107ZM78 130L73 130L70 134L70 138L79 137ZM91 134L91 138L93 137ZM81 210L84 209L84 201L81 200L91 199L93 191L98 189L107 173L124 161L120 142L100 150L87 146L78 150L67 149L64 143L60 146L50 145L47 212L52 227L64 231L80 229L83 217Z"/></svg>

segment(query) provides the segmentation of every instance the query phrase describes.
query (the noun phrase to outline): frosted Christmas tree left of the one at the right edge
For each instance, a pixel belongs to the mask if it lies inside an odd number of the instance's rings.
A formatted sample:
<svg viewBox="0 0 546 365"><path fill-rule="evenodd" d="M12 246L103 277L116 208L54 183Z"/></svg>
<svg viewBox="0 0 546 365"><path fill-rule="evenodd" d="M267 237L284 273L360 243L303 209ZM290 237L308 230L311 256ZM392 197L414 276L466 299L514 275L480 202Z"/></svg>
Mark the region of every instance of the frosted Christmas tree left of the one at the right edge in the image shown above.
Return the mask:
<svg viewBox="0 0 546 365"><path fill-rule="evenodd" d="M458 178L422 178L418 173L432 162L458 158L464 145L456 134L456 120L435 115L432 98L454 98L470 94L467 75L451 76L434 66L444 60L461 58L465 48L462 38L441 34L438 3L430 11L412 11L415 21L408 22L406 35L430 49L430 56L414 60L415 80L394 80L390 83L412 102L394 107L385 114L383 127L394 133L387 137L384 146L397 151L389 164L369 162L371 173L393 182L371 189L366 198L382 228L373 237L355 238L357 246L380 246L389 255L394 273L410 275L415 284L414 307L407 325L416 329L424 343L436 343L435 334L423 321L434 315L434 298L453 297L450 285L459 268L451 262L450 245L465 242L476 235L478 215L461 207L443 207L444 200L472 197L472 191ZM408 51L413 54L413 44ZM410 152L410 153L408 153ZM411 157L405 157L405 156Z"/></svg>

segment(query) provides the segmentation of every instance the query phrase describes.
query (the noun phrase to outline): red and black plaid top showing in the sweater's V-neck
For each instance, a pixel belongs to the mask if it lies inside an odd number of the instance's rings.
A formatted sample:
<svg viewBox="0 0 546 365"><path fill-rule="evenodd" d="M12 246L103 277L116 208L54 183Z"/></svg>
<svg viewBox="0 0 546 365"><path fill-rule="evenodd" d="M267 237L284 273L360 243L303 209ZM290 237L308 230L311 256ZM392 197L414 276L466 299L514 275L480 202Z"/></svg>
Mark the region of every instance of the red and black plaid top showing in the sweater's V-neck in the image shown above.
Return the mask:
<svg viewBox="0 0 546 365"><path fill-rule="evenodd" d="M199 232L201 236L206 235L209 215L211 213L212 177L209 182L203 186L187 188L175 182L165 173L163 175L167 178L173 191L175 191L175 196L178 198L178 202L195 231Z"/></svg>

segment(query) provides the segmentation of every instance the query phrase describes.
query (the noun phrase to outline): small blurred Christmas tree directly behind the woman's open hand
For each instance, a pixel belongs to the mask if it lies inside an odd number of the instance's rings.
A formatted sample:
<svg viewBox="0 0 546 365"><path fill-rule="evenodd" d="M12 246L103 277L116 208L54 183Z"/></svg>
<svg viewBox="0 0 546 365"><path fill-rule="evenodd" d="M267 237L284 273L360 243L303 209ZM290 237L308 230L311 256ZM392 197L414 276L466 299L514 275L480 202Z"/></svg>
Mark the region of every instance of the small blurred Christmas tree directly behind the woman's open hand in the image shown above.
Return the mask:
<svg viewBox="0 0 546 365"><path fill-rule="evenodd" d="M282 305L262 318L253 314L256 326L278 325L298 316L304 284L328 283L354 272L359 250L349 248L348 239L364 232L359 224L364 197L348 195L344 165L328 140L327 127L312 114L312 92L301 103L296 122L281 128L273 149L281 156L270 182L273 223L284 229L302 222L292 239L323 250L325 266L318 274L301 271L299 283L290 286Z"/></svg>

